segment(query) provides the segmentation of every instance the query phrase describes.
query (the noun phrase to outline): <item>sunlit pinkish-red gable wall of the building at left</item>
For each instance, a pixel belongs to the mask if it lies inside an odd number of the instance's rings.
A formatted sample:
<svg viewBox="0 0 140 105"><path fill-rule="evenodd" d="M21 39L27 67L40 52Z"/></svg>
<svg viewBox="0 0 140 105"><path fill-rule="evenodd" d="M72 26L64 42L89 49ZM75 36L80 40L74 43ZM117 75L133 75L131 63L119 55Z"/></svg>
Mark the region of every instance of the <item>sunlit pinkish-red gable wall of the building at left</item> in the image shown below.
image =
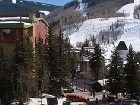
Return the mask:
<svg viewBox="0 0 140 105"><path fill-rule="evenodd" d="M36 40L39 38L39 36L43 39L43 43L45 44L45 40L46 40L46 35L48 32L47 26L43 21L38 21L35 24L35 36Z"/></svg>

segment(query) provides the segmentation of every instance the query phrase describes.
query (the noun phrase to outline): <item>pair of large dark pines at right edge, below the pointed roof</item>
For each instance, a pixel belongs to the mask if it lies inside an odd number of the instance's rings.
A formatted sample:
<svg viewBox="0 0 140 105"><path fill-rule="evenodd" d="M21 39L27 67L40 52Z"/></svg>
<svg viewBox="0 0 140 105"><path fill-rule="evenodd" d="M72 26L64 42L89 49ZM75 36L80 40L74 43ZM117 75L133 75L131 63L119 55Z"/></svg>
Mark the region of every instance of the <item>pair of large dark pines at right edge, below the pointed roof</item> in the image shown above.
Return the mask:
<svg viewBox="0 0 140 105"><path fill-rule="evenodd" d="M107 75L107 90L116 95L116 98L118 93L123 93L126 94L127 98L137 99L140 96L140 68L136 53L131 45L129 46L126 62L126 64L123 64L119 51L115 49Z"/></svg>

